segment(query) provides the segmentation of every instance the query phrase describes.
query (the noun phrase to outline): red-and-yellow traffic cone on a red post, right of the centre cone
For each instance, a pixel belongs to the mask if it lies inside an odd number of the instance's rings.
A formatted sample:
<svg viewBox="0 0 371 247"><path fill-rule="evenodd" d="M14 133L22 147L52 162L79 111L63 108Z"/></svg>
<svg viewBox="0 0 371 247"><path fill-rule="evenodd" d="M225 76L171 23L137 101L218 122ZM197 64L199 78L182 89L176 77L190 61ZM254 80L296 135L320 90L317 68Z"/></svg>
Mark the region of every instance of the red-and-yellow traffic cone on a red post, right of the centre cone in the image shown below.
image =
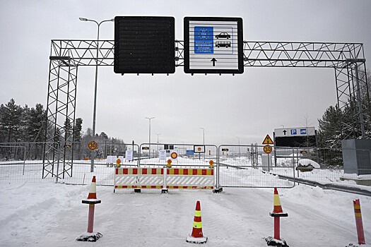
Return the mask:
<svg viewBox="0 0 371 247"><path fill-rule="evenodd" d="M282 210L277 188L274 188L273 212L270 212L269 215L274 218L274 237L267 237L265 239L266 243L268 246L288 246L286 241L281 239L280 236L280 218L288 217L288 213Z"/></svg>

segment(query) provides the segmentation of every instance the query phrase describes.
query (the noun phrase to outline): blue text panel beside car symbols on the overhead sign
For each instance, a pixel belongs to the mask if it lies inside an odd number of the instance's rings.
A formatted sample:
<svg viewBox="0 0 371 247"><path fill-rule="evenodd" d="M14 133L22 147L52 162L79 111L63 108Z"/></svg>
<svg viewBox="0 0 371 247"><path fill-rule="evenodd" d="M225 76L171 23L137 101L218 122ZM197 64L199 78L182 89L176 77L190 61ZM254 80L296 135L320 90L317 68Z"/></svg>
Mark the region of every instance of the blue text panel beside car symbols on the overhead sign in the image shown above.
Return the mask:
<svg viewBox="0 0 371 247"><path fill-rule="evenodd" d="M194 27L194 53L213 54L214 53L214 28L213 27Z"/></svg>

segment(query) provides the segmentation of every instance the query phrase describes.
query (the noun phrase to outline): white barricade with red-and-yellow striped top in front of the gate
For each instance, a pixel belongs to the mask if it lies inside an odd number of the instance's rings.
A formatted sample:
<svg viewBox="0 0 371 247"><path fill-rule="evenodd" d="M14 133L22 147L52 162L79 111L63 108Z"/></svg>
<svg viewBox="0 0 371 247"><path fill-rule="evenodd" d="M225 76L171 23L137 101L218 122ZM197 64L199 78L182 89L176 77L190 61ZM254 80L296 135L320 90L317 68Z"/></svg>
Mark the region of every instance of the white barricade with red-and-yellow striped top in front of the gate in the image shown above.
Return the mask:
<svg viewBox="0 0 371 247"><path fill-rule="evenodd" d="M213 169L116 167L114 174L114 191L117 188L213 189L214 183Z"/></svg>

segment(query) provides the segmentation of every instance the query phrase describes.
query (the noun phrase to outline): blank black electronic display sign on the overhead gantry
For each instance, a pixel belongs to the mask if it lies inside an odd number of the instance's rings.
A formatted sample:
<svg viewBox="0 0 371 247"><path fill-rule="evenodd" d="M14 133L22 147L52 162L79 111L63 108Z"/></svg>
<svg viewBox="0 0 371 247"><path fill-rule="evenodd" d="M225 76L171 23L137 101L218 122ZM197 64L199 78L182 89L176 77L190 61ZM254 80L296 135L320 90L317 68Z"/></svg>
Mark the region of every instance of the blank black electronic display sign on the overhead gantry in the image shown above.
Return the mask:
<svg viewBox="0 0 371 247"><path fill-rule="evenodd" d="M114 73L175 73L175 18L116 16Z"/></svg>

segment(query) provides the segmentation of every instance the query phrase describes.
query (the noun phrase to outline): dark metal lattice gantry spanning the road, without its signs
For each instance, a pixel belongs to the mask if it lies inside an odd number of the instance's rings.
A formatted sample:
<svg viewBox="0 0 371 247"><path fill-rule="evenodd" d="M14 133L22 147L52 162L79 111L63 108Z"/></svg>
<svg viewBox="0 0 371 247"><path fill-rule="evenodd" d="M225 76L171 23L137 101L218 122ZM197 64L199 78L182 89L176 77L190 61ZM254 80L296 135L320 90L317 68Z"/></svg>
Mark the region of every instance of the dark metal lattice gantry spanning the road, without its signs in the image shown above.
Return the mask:
<svg viewBox="0 0 371 247"><path fill-rule="evenodd" d="M96 56L98 49L98 57ZM244 41L244 66L334 68L338 111L352 111L353 123L341 121L342 138L360 138L371 124L370 90L363 44ZM47 96L47 130L42 177L72 176L78 66L113 66L113 40L52 40ZM184 65L184 42L175 40L175 66ZM360 93L361 92L361 93ZM351 108L349 104L358 107ZM365 119L367 121L365 121ZM352 129L346 135L343 129ZM56 145L58 140L64 143ZM63 166L57 171L56 164Z"/></svg>

